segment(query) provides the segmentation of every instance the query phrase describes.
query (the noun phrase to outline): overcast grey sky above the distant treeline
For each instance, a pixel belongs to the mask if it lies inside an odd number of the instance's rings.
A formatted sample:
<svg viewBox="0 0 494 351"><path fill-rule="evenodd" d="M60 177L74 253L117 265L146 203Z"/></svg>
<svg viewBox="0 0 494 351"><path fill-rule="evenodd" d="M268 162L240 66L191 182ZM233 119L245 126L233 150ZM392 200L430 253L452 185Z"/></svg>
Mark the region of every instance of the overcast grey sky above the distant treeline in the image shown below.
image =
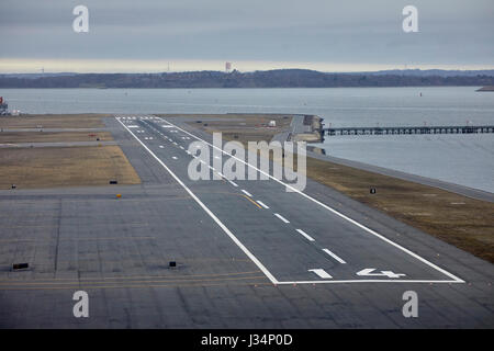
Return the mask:
<svg viewBox="0 0 494 351"><path fill-rule="evenodd" d="M494 68L494 0L2 0L0 33L0 72Z"/></svg>

